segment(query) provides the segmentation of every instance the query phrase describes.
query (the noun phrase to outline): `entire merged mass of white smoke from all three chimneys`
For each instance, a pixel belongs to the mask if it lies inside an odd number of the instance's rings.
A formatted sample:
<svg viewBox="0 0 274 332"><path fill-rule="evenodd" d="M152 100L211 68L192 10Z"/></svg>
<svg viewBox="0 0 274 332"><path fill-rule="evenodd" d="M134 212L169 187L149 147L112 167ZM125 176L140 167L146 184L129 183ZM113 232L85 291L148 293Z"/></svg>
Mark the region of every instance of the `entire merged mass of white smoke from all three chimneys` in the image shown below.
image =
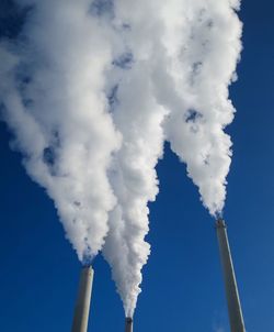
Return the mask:
<svg viewBox="0 0 274 332"><path fill-rule="evenodd" d="M79 259L112 266L126 316L150 246L163 143L221 213L241 51L237 0L19 1L0 44L2 114L28 175L54 200Z"/></svg>

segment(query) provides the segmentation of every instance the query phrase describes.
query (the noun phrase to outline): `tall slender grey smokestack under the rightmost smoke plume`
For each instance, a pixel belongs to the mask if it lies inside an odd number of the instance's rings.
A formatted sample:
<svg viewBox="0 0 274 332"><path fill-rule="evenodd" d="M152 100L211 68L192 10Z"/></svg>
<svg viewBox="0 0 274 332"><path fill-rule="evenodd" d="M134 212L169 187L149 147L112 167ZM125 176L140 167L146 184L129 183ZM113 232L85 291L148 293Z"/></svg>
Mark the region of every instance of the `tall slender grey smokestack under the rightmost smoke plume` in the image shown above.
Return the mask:
<svg viewBox="0 0 274 332"><path fill-rule="evenodd" d="M227 226L222 219L216 221L216 230L226 286L230 330L231 332L246 332L233 263L228 243Z"/></svg>

